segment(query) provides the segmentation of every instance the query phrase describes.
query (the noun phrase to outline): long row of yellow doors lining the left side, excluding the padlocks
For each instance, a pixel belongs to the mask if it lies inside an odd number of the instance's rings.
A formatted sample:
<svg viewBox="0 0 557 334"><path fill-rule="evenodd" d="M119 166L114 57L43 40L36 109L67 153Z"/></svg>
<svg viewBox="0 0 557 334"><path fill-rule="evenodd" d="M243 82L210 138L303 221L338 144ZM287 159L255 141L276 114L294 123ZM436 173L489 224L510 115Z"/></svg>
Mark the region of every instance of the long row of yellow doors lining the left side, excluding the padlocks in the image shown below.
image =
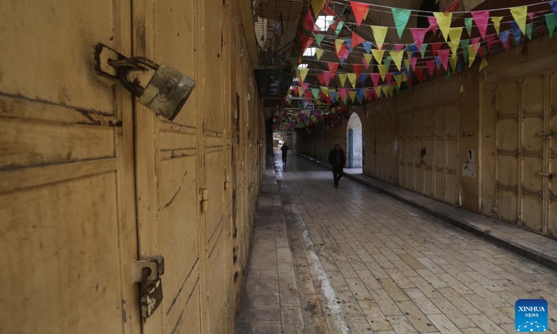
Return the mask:
<svg viewBox="0 0 557 334"><path fill-rule="evenodd" d="M249 1L8 0L0 22L0 333L233 333L265 161ZM100 80L97 42L195 79L180 115Z"/></svg>

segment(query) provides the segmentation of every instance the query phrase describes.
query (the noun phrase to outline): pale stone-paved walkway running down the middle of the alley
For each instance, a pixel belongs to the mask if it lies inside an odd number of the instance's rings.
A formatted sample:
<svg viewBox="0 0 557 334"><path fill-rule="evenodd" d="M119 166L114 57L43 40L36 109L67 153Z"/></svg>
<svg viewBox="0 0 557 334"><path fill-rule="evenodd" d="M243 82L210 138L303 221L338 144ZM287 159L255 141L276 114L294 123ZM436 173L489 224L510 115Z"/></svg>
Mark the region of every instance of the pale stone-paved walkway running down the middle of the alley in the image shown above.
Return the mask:
<svg viewBox="0 0 557 334"><path fill-rule="evenodd" d="M304 321L282 333L517 333L515 301L538 298L557 326L556 271L304 158L275 166Z"/></svg>

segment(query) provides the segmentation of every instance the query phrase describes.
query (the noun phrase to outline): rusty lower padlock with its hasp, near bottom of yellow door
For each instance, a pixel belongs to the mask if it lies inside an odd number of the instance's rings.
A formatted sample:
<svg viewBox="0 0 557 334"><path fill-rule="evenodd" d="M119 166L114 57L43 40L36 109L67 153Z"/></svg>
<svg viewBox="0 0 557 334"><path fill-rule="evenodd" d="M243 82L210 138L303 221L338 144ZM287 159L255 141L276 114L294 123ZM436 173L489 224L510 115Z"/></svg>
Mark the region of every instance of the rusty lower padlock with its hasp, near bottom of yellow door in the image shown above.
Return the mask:
<svg viewBox="0 0 557 334"><path fill-rule="evenodd" d="M132 262L132 278L139 283L139 309L141 317L147 319L162 302L162 280L164 258L162 256L142 257Z"/></svg>

